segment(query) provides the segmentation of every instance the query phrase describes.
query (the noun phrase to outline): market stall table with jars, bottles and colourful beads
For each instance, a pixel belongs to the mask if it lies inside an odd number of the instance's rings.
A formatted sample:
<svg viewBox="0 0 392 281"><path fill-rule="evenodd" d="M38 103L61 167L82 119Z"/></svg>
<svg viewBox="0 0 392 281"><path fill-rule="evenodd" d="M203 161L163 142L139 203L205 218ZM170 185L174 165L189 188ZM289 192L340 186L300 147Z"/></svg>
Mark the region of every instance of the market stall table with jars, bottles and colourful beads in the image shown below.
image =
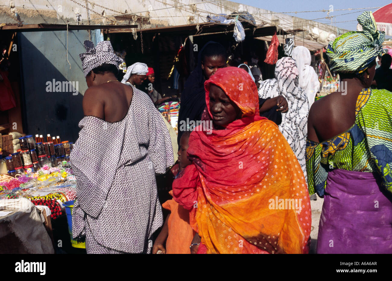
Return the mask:
<svg viewBox="0 0 392 281"><path fill-rule="evenodd" d="M52 139L49 135L47 140L53 141L42 142L42 136L38 135L35 140L32 135L21 136L18 140L20 148L10 155L3 154L5 157L0 160L0 238L3 243L21 245L7 248L9 252L39 253L38 248L42 246L42 253L53 253L58 241L53 239L52 223L60 217L65 218L64 203L76 198L76 177L69 161L73 144L61 142L59 137ZM21 222L27 228L20 225ZM38 233L30 235L33 232L27 231L28 227ZM46 245L47 239L51 247ZM26 246L37 241L41 241L41 246ZM78 248L81 246L76 241L74 244Z"/></svg>

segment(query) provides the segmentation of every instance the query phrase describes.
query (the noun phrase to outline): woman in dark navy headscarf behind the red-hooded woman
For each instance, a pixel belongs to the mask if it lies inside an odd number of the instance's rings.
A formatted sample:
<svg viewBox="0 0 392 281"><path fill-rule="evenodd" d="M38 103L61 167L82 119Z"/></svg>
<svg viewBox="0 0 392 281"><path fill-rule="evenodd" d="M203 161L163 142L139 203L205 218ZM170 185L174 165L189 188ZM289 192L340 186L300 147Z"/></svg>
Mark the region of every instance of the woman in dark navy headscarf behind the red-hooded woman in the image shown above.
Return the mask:
<svg viewBox="0 0 392 281"><path fill-rule="evenodd" d="M206 106L204 82L218 68L226 67L226 57L225 47L214 41L209 41L200 50L198 64L185 82L184 90L181 94L181 105L178 115L178 143L183 134L183 131L180 130L180 124L187 122L187 118L189 118L189 121L201 120L201 114Z"/></svg>

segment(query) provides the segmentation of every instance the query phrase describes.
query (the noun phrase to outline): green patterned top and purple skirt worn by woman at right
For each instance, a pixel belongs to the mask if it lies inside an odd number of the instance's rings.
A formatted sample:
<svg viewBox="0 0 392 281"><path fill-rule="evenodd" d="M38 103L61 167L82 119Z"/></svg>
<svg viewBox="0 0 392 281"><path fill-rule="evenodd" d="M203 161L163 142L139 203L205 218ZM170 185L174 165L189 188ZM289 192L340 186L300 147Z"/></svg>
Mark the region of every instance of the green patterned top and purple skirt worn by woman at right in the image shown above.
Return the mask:
<svg viewBox="0 0 392 281"><path fill-rule="evenodd" d="M324 196L318 253L392 253L392 93L363 89L355 114L338 136L307 140L309 193Z"/></svg>

